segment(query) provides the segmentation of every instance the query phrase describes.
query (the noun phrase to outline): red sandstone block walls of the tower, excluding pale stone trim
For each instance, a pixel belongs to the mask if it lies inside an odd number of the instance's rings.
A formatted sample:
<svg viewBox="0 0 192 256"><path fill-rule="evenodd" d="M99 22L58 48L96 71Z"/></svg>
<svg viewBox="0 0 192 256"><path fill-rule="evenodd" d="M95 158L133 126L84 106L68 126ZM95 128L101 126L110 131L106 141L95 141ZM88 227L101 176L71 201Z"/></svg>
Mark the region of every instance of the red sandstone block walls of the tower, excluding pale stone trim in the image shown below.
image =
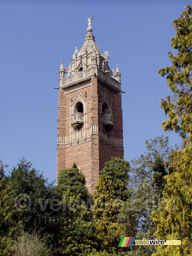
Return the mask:
<svg viewBox="0 0 192 256"><path fill-rule="evenodd" d="M94 73L94 72L93 72ZM100 109L100 91L104 91L97 86L97 78L92 76L90 86L80 90L80 94L84 96L84 91L87 94L86 101L86 128L90 128L92 124L98 124L100 129L101 109ZM58 107L58 134L70 134L70 99L74 101L77 96L77 91L65 94L59 90L59 107ZM114 127L109 134L114 137L123 138L123 123L121 109L121 94L116 97L107 93L107 99L113 99L112 114L114 118ZM84 109L85 111L85 109ZM84 126L82 127L84 129ZM72 132L75 132L72 129ZM104 163L109 161L111 157L123 157L123 148L112 147L112 145L99 139L99 134L92 134L91 138L86 141L79 140L79 143L72 142L72 145L58 145L57 148L57 170L69 168L74 163L84 173L86 185L89 192L94 190L94 187L99 179L100 170L104 167Z"/></svg>

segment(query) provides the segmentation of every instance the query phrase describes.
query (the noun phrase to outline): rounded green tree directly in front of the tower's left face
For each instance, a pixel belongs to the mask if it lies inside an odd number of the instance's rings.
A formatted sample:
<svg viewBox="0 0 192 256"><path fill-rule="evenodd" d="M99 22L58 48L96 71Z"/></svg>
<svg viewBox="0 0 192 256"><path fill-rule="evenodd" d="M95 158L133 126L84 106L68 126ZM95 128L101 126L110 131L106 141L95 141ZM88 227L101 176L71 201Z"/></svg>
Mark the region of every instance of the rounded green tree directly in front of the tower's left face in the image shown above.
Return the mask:
<svg viewBox="0 0 192 256"><path fill-rule="evenodd" d="M97 246L90 212L91 195L85 177L76 166L60 171L57 198L66 208L59 211L59 255L87 255ZM86 206L87 204L87 206Z"/></svg>

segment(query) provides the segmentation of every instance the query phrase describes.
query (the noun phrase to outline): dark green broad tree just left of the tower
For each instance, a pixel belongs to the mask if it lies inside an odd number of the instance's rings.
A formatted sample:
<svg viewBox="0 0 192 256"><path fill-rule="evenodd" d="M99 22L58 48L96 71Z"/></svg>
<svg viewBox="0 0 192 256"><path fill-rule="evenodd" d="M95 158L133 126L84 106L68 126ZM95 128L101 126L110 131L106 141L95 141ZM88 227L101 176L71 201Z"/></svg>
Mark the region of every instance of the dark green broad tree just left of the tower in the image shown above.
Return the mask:
<svg viewBox="0 0 192 256"><path fill-rule="evenodd" d="M49 203L54 198L52 183L44 179L43 173L32 168L32 163L22 158L11 172L9 181L14 187L14 197L24 232L36 233L48 241L51 249L57 248L57 228L49 219L55 215Z"/></svg>

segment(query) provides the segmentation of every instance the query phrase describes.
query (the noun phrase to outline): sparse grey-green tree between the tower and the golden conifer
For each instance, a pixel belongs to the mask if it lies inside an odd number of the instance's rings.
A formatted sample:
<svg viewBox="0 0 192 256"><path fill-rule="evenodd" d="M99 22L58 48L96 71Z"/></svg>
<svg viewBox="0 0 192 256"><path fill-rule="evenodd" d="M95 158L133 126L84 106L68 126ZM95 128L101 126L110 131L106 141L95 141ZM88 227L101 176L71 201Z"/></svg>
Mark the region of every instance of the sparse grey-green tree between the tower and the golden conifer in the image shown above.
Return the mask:
<svg viewBox="0 0 192 256"><path fill-rule="evenodd" d="M146 140L147 152L139 159L131 161L130 198L124 203L119 220L126 225L127 236L136 239L153 239L156 226L151 221L151 212L158 208L164 186L164 176L167 174L165 161L170 154L168 137L156 137ZM132 244L127 255L151 255L154 246L140 246Z"/></svg>

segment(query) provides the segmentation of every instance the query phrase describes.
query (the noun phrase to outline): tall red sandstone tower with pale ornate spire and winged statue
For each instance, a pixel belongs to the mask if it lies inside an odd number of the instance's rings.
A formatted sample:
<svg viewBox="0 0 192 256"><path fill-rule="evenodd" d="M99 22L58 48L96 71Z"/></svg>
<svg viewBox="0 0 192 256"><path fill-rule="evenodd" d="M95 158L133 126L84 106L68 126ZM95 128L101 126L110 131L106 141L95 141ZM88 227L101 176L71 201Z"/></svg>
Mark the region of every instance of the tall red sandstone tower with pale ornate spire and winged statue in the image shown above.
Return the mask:
<svg viewBox="0 0 192 256"><path fill-rule="evenodd" d="M100 170L111 157L123 157L121 73L108 66L88 20L80 51L75 48L67 69L59 69L57 173L76 163L86 178L89 192Z"/></svg>

